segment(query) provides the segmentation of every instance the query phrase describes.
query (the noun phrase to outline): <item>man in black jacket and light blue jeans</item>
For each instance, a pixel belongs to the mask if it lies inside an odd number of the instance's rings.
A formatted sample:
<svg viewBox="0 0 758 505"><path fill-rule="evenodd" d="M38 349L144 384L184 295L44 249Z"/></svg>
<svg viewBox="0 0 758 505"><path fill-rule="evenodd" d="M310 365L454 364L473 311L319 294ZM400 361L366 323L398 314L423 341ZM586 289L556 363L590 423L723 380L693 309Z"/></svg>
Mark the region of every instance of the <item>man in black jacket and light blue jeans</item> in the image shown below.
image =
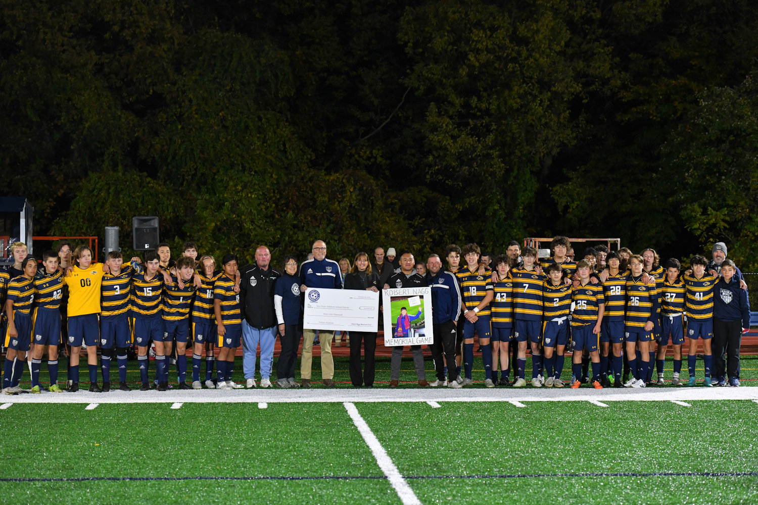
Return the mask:
<svg viewBox="0 0 758 505"><path fill-rule="evenodd" d="M261 386L271 388L277 315L274 310L274 283L281 277L270 266L271 252L255 249L255 265L245 267L240 277L242 297L243 371L247 387L255 388L255 354L261 346Z"/></svg>

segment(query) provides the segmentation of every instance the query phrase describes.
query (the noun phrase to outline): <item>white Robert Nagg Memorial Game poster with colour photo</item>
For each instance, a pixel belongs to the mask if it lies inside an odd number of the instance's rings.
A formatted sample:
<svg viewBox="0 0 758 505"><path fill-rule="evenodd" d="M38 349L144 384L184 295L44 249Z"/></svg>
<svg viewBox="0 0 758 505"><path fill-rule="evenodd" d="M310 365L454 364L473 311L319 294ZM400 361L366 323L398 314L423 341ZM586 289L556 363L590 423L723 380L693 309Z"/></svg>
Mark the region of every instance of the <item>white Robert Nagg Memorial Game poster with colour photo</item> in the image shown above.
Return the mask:
<svg viewBox="0 0 758 505"><path fill-rule="evenodd" d="M431 288L385 289L383 295L384 345L428 345L434 341Z"/></svg>

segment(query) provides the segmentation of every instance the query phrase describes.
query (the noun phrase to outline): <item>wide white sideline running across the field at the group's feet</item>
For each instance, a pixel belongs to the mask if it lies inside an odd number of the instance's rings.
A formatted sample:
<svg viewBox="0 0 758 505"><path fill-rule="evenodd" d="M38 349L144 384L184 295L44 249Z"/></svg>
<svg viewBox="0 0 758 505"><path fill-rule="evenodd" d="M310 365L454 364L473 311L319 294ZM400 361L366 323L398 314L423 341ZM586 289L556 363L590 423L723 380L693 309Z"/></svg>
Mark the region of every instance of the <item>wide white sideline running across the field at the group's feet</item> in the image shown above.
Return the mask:
<svg viewBox="0 0 758 505"><path fill-rule="evenodd" d="M177 391L78 391L66 394L17 394L13 404L172 404L172 403L344 403L356 402L477 402L477 401L758 401L758 387L749 388L606 388L572 389L198 389Z"/></svg>

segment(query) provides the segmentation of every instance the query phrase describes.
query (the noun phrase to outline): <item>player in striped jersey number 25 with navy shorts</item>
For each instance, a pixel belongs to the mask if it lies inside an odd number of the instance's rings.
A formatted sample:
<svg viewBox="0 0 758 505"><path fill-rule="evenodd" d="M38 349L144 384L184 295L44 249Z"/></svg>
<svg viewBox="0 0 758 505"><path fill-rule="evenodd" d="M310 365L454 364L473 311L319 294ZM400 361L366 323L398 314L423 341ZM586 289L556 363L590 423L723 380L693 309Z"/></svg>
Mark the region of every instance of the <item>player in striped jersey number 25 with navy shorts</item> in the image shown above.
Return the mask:
<svg viewBox="0 0 758 505"><path fill-rule="evenodd" d="M574 346L572 388L578 388L581 385L578 380L581 374L581 355L577 351L584 350L589 351L590 360L592 360L592 385L595 389L603 388L600 385L600 327L603 324L605 298L603 286L590 282L591 270L592 265L589 261L581 260L577 263L579 285L572 295L574 302L571 320Z"/></svg>

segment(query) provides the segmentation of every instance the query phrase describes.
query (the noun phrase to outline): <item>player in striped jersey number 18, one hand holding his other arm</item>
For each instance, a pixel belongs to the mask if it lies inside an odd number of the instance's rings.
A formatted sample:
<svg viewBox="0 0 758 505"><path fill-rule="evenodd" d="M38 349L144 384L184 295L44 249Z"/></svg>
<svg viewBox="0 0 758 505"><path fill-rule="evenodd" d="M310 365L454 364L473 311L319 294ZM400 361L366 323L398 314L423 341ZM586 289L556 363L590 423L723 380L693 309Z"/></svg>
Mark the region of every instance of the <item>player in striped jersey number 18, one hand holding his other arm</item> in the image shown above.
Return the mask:
<svg viewBox="0 0 758 505"><path fill-rule="evenodd" d="M463 298L463 368L465 377L462 385L472 385L471 369L474 366L474 335L478 335L484 361L484 385L494 388L492 380L492 351L490 348L490 301L493 298L492 271L485 268L479 273L481 251L476 244L463 248L466 266L456 272Z"/></svg>

